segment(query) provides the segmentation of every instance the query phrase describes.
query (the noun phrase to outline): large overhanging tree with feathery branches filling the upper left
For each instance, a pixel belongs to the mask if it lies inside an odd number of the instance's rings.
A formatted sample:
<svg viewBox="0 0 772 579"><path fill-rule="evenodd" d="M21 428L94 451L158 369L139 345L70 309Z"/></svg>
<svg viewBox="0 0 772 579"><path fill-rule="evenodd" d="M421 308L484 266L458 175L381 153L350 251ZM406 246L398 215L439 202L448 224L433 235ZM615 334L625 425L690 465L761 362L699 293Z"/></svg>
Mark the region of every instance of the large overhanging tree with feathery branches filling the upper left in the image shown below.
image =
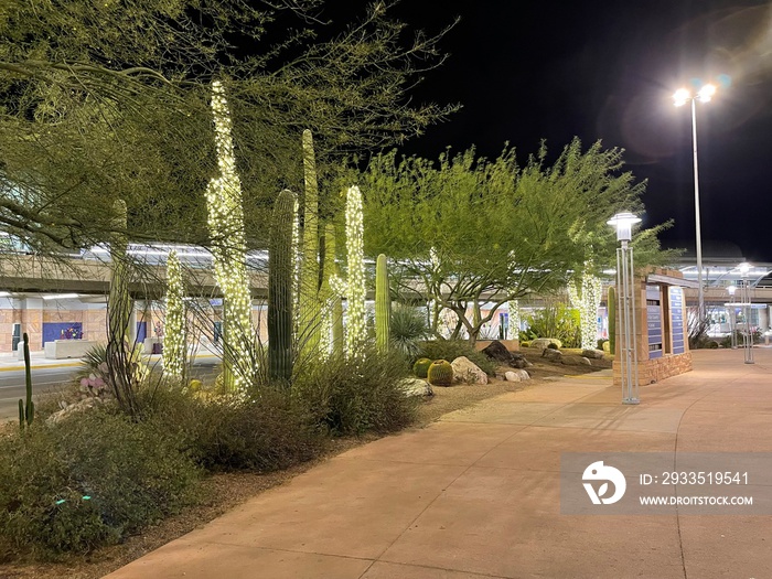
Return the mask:
<svg viewBox="0 0 772 579"><path fill-rule="evenodd" d="M4 0L0 228L40 253L104 243L124 199L130 240L210 245L219 78L246 243L267 247L275 192L302 190L303 129L321 180L337 156L400 142L452 110L410 103L442 61L442 33L410 40L390 4L344 25L323 0Z"/></svg>

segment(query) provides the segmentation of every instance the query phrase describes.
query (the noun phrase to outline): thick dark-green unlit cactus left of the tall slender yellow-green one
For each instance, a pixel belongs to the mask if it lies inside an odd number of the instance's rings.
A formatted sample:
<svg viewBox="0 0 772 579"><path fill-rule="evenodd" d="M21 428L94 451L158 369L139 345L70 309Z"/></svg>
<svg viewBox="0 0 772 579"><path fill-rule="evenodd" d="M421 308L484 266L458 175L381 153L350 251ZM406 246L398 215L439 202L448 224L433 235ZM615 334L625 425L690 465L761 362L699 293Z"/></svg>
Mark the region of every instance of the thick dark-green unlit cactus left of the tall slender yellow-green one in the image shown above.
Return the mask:
<svg viewBox="0 0 772 579"><path fill-rule="evenodd" d="M268 373L271 378L292 377L292 221L296 196L289 190L274 205L268 251Z"/></svg>

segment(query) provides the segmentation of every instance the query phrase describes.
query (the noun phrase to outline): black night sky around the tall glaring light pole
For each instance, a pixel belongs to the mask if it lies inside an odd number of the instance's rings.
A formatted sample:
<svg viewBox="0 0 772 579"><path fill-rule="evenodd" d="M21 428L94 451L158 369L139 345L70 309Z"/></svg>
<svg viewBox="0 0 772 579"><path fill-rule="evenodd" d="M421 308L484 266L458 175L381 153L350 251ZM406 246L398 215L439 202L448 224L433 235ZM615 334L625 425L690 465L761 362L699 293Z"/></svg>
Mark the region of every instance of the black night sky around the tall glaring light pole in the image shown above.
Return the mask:
<svg viewBox="0 0 772 579"><path fill-rule="evenodd" d="M772 4L405 0L395 14L430 32L461 17L450 58L414 95L463 109L405 153L496 157L510 141L525 160L543 138L553 154L573 136L602 139L648 180L644 225L674 218L663 239L679 246L695 237L691 121L672 96L722 82L697 104L704 256L715 240L772 261Z"/></svg>

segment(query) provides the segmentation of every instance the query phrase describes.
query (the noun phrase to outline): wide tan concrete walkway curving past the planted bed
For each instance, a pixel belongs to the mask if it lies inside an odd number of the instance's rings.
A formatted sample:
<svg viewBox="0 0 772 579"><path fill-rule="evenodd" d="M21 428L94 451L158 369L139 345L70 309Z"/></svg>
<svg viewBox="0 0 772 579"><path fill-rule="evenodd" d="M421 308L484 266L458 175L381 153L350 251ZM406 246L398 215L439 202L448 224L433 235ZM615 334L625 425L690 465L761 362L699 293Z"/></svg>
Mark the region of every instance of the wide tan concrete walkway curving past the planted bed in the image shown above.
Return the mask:
<svg viewBox="0 0 772 579"><path fill-rule="evenodd" d="M109 575L772 577L766 516L568 516L561 452L772 452L772 351L694 352L620 404L608 372L505 394L345 452Z"/></svg>

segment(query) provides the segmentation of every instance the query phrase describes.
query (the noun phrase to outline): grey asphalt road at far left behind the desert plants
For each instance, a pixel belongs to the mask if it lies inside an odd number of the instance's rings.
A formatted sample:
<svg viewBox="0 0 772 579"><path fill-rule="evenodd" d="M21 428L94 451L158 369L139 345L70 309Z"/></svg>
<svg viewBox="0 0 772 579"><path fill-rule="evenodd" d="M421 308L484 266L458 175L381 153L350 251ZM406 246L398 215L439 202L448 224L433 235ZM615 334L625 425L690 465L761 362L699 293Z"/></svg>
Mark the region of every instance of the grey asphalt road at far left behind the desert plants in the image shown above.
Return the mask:
<svg viewBox="0 0 772 579"><path fill-rule="evenodd" d="M216 373L217 360L202 360L193 364L192 377L211 379ZM56 389L72 379L77 366L32 368L32 386L35 395ZM24 371L0 372L0 420L19 417L19 398L26 396Z"/></svg>

